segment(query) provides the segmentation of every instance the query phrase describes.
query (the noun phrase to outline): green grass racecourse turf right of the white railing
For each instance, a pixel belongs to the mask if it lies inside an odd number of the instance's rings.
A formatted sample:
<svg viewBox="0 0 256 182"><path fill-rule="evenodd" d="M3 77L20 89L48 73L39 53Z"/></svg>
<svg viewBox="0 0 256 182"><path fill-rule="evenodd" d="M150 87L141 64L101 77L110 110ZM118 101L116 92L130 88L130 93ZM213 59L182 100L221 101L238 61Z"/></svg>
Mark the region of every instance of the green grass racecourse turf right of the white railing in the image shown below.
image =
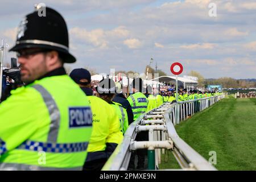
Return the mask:
<svg viewBox="0 0 256 182"><path fill-rule="evenodd" d="M256 170L256 99L227 96L176 126L185 142L209 159L217 152L218 170ZM178 168L171 154L160 168Z"/></svg>

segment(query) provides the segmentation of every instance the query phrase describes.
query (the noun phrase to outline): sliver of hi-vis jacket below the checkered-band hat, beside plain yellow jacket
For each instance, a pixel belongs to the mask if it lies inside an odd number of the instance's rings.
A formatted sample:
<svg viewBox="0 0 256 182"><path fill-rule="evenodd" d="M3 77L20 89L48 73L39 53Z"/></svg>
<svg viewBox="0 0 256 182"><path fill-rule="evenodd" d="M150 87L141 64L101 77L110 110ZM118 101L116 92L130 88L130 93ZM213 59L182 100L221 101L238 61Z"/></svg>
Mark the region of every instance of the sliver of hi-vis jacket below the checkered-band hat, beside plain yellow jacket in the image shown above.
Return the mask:
<svg viewBox="0 0 256 182"><path fill-rule="evenodd" d="M125 131L129 127L127 111L121 104L119 104L117 102L113 102L113 103L114 104L112 106L114 106L114 108L118 114L118 118L119 118L119 121L121 124L122 133L125 134Z"/></svg>

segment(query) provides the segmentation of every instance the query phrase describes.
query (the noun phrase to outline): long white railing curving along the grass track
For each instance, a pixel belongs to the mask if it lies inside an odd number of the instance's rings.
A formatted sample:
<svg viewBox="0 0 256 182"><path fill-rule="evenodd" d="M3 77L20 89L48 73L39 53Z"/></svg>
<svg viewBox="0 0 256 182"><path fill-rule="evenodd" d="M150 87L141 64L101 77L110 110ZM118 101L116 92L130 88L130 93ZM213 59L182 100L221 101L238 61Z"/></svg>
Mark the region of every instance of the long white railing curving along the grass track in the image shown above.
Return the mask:
<svg viewBox="0 0 256 182"><path fill-rule="evenodd" d="M148 150L148 169L158 169L161 150L162 154L165 150L171 150L184 170L216 170L177 135L175 125L196 112L207 109L224 97L220 95L173 104L166 102L141 115L126 130L123 142L117 146L102 170L127 170L131 151L141 148ZM140 131L148 131L148 141L135 141Z"/></svg>

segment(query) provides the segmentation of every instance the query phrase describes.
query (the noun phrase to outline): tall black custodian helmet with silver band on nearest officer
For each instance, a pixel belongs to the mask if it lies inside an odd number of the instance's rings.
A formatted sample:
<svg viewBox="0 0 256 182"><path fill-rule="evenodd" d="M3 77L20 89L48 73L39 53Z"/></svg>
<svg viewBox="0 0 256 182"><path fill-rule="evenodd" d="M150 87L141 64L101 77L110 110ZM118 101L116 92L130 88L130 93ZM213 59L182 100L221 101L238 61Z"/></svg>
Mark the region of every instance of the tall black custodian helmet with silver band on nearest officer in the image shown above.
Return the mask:
<svg viewBox="0 0 256 182"><path fill-rule="evenodd" d="M16 45L9 51L23 48L44 48L59 52L64 63L74 63L76 58L69 53L68 28L63 16L45 7L46 16L39 16L42 7L25 16L20 22Z"/></svg>

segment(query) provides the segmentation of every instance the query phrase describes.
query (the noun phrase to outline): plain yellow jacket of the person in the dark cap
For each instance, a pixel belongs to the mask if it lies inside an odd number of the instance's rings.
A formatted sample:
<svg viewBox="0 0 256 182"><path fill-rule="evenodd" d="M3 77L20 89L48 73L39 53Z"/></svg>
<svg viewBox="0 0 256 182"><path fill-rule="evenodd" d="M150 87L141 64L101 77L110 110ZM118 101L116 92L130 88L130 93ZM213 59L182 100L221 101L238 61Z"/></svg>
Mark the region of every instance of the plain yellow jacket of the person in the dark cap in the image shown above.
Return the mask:
<svg viewBox="0 0 256 182"><path fill-rule="evenodd" d="M107 158L106 144L119 144L123 134L116 110L108 102L96 96L88 96L93 114L93 130L88 146L86 162Z"/></svg>

